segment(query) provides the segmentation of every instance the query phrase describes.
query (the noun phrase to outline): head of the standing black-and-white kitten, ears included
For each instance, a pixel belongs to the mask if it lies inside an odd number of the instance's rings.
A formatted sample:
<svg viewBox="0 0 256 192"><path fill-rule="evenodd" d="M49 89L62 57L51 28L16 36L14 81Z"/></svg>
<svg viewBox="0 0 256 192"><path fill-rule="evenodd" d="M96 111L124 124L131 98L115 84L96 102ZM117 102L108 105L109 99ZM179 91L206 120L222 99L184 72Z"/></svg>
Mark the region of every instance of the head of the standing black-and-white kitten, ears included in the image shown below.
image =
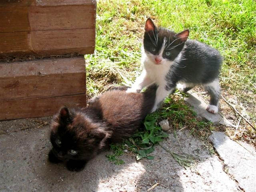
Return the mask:
<svg viewBox="0 0 256 192"><path fill-rule="evenodd" d="M144 50L154 64L170 64L178 56L188 37L188 30L179 34L165 28L156 28L152 20L146 21Z"/></svg>

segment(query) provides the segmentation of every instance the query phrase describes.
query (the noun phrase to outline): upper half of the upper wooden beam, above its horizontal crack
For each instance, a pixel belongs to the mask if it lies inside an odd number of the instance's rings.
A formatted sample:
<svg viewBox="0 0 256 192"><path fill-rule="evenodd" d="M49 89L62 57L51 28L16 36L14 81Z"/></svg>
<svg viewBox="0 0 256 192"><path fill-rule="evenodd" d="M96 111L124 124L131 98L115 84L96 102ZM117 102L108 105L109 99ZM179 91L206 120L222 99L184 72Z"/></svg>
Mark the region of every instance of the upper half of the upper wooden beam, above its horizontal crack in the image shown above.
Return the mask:
<svg viewBox="0 0 256 192"><path fill-rule="evenodd" d="M95 5L0 6L0 32L95 28Z"/></svg>

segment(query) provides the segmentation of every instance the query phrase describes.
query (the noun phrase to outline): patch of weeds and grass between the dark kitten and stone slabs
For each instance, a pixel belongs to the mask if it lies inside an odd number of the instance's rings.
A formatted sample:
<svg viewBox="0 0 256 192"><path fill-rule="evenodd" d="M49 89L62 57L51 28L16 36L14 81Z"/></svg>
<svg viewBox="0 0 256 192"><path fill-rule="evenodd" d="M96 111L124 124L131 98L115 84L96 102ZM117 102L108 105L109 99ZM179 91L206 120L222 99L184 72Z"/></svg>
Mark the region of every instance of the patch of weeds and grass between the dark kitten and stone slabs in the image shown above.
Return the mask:
<svg viewBox="0 0 256 192"><path fill-rule="evenodd" d="M178 98L178 94L166 98L164 101L164 106L160 108L157 112L149 114L144 120L144 128L137 130L137 132L125 140L122 144L112 144L111 150L112 155L107 155L110 161L114 161L115 164L124 163L118 158L118 156L123 154L124 149L130 150L136 154L136 160L142 158L154 159L150 153L154 151L154 146L159 144L166 152L170 153L173 158L184 168L192 167L195 164L192 156L188 154L176 154L162 146L159 142L163 138L168 137L168 134L162 131L161 127L158 126L158 122L162 119L168 119L170 124L172 124L171 131L176 137L176 132L181 128L188 128L190 133L198 138L200 138L205 145L205 147L213 154L214 149L208 140L212 130L215 128L212 126L211 122L200 121L196 119L196 114L188 106L184 104L183 100Z"/></svg>

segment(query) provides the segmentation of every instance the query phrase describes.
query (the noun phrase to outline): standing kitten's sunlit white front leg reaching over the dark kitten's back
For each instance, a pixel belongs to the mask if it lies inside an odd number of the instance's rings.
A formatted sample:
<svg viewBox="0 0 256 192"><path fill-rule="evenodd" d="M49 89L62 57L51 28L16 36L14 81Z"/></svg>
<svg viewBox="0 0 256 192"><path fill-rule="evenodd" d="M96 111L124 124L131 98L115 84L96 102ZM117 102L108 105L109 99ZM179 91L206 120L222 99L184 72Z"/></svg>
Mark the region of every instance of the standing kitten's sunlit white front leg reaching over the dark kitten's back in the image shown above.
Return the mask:
<svg viewBox="0 0 256 192"><path fill-rule="evenodd" d="M150 79L146 70L143 70L141 75L136 78L132 87L126 90L126 93L139 93L142 90L142 88L144 88L145 86L148 86L153 82L154 81Z"/></svg>

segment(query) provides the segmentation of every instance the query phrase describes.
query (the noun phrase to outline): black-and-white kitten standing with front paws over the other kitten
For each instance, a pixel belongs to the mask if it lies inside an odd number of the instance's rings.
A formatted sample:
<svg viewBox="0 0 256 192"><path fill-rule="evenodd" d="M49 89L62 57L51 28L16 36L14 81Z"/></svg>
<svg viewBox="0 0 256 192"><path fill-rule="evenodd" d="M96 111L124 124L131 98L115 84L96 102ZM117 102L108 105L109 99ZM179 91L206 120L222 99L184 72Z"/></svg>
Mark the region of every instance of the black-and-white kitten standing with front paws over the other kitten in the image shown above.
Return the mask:
<svg viewBox="0 0 256 192"><path fill-rule="evenodd" d="M141 75L127 92L140 92L152 83L158 85L154 112L162 100L175 91L176 86L187 92L202 85L210 95L206 110L218 112L220 85L218 75L222 64L220 53L196 40L188 40L189 30L175 33L157 28L148 18L145 24Z"/></svg>

